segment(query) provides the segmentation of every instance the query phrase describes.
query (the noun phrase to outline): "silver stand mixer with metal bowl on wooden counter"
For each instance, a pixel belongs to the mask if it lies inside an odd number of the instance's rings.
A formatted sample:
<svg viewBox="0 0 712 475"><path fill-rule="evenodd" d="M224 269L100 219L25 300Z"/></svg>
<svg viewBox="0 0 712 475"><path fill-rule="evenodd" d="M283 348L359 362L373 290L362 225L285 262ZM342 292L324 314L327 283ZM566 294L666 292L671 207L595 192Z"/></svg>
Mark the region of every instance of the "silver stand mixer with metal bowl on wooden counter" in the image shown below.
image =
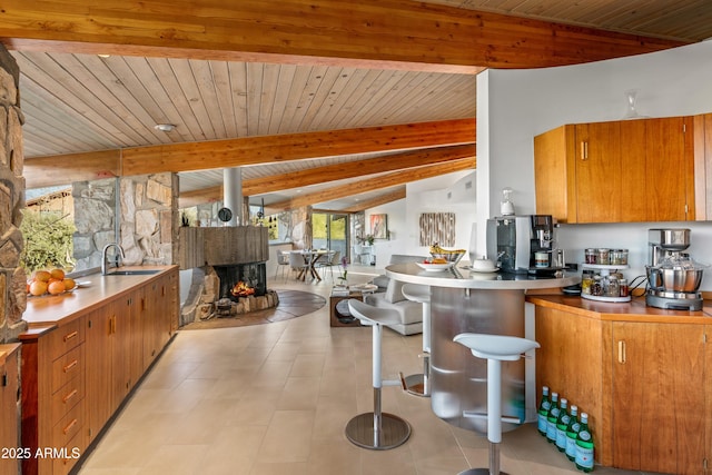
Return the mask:
<svg viewBox="0 0 712 475"><path fill-rule="evenodd" d="M703 268L690 258L690 229L649 229L645 304L672 310L701 310Z"/></svg>

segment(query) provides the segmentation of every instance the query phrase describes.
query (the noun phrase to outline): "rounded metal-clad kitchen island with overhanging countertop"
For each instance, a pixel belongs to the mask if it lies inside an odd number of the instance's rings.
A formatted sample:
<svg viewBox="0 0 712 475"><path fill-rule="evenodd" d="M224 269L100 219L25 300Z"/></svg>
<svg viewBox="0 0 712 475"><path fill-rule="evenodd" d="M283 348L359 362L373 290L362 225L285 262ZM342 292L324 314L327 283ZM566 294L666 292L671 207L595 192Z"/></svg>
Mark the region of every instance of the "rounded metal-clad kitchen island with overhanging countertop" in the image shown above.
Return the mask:
<svg viewBox="0 0 712 475"><path fill-rule="evenodd" d="M486 413L487 363L453 343L453 337L465 331L528 336L525 335L525 291L558 288L580 280L578 276L535 278L526 274L481 274L457 267L428 271L415 263L387 266L386 275L431 287L431 407L442 419L482 434L486 433L486 420L465 418L462 414L463 410ZM503 415L523 420L524 360L504 363L502 375ZM533 382L531 386L533 388ZM515 427L504 424L503 431Z"/></svg>

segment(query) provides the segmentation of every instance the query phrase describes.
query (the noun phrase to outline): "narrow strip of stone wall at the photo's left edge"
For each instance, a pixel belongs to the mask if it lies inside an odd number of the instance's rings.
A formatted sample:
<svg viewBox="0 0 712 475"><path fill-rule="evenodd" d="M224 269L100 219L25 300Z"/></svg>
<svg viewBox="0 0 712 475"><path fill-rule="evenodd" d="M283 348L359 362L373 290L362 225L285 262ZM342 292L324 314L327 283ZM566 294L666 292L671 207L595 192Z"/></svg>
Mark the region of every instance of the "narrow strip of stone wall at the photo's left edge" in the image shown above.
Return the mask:
<svg viewBox="0 0 712 475"><path fill-rule="evenodd" d="M24 208L20 71L0 46L0 343L16 342L27 329L27 276L20 267Z"/></svg>

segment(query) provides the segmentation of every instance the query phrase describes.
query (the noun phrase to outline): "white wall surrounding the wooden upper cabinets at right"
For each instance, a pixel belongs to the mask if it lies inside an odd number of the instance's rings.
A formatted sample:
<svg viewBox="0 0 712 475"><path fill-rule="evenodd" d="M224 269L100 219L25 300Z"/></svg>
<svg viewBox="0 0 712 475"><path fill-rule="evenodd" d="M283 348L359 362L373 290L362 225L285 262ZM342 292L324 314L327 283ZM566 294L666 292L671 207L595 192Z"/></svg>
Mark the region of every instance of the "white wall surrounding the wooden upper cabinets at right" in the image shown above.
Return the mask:
<svg viewBox="0 0 712 475"><path fill-rule="evenodd" d="M536 70L487 70L477 77L477 220L498 214L501 190L514 189L517 214L535 212L534 136L564 123L620 120L625 92L637 90L637 111L650 117L712 112L712 42L595 63ZM643 196L640 199L644 199ZM631 250L632 278L644 273L647 229L686 227L690 254L712 264L712 222L568 225L558 230L570 261L585 247ZM485 247L477 229L478 251ZM712 270L703 290L712 290Z"/></svg>

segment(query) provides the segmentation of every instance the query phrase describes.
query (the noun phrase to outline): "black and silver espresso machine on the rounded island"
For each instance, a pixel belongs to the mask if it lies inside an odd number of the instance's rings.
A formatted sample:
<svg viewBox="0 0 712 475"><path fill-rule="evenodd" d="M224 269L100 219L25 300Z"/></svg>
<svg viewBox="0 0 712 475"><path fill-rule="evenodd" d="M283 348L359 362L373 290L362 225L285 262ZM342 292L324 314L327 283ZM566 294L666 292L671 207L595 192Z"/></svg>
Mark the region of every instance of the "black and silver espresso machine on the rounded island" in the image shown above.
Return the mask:
<svg viewBox="0 0 712 475"><path fill-rule="evenodd" d="M487 258L505 273L553 274L563 267L554 249L551 215L503 216L487 220Z"/></svg>

